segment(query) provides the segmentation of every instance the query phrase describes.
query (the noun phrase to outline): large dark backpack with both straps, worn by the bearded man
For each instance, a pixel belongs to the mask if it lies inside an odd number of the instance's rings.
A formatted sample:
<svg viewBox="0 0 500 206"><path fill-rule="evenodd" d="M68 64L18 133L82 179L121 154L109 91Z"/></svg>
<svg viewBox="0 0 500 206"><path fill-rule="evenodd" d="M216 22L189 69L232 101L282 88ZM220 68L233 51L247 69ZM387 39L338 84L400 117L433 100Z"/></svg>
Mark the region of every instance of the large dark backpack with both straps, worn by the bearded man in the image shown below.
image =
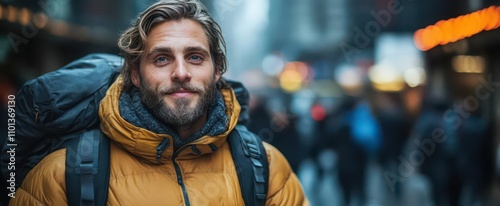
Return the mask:
<svg viewBox="0 0 500 206"><path fill-rule="evenodd" d="M16 144L16 167L8 170L9 156L2 155L4 177L15 172L18 188L43 157L66 148L68 205L106 205L109 138L99 129L98 108L122 64L115 55L91 54L25 83L16 96L16 127L22 129L2 149L7 154ZM241 105L238 125L228 137L241 194L245 205L265 205L269 164L262 140L245 126L248 91L227 82Z"/></svg>

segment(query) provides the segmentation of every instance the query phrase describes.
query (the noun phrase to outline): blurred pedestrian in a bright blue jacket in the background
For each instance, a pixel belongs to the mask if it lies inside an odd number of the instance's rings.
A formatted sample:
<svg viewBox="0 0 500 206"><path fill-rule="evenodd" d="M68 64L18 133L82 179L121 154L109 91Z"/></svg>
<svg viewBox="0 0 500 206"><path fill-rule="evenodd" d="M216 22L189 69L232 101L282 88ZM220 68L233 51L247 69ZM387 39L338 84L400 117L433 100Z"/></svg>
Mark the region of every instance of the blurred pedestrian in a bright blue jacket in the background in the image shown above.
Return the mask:
<svg viewBox="0 0 500 206"><path fill-rule="evenodd" d="M367 114L369 107L366 102L359 103L350 96L339 101L329 117L326 131L338 155L338 179L344 204L364 205L368 154L377 150L380 136L373 135L377 125Z"/></svg>

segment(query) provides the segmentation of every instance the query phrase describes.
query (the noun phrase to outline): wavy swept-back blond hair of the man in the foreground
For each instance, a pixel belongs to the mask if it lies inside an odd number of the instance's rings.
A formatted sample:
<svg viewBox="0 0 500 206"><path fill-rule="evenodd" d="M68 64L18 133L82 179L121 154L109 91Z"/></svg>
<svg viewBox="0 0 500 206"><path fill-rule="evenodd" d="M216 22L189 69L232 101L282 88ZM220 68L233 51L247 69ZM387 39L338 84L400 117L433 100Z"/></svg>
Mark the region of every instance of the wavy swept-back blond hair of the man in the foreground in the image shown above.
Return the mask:
<svg viewBox="0 0 500 206"><path fill-rule="evenodd" d="M118 47L125 61L121 71L125 91L133 88L131 69L139 68L139 61L151 29L159 23L181 19L194 20L203 27L214 67L220 70L221 75L226 72L226 42L219 24L210 16L207 8L198 0L161 0L132 21L132 26L118 39Z"/></svg>

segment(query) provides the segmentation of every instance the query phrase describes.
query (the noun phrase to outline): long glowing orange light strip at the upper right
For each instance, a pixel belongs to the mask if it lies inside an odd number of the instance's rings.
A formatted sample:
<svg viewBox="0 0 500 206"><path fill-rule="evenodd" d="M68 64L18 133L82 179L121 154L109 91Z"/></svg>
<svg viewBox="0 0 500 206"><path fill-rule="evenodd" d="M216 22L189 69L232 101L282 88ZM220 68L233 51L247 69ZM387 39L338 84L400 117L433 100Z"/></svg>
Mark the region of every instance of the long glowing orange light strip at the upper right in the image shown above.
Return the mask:
<svg viewBox="0 0 500 206"><path fill-rule="evenodd" d="M456 42L498 27L500 6L490 6L456 18L440 20L434 25L419 29L413 35L413 42L418 49L427 51L437 45Z"/></svg>

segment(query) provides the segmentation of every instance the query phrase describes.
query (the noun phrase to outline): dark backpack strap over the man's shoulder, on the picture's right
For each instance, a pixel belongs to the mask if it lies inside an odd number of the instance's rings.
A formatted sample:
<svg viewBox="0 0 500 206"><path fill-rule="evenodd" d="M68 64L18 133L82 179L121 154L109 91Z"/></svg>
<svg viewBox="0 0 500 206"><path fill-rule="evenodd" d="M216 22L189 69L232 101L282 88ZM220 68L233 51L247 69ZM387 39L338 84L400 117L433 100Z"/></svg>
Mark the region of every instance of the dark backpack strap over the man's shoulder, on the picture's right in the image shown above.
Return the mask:
<svg viewBox="0 0 500 206"><path fill-rule="evenodd" d="M245 205L265 205L269 163L262 140L245 126L237 125L228 142Z"/></svg>

